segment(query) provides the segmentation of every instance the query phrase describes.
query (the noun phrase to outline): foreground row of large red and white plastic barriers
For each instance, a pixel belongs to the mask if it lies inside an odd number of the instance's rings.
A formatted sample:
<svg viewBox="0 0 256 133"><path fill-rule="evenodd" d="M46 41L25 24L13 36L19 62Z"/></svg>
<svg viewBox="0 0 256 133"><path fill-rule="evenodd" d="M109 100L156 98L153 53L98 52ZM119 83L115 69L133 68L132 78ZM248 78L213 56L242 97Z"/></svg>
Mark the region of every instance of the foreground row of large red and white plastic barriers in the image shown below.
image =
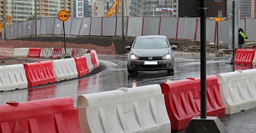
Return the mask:
<svg viewBox="0 0 256 133"><path fill-rule="evenodd" d="M255 108L255 75L255 69L248 69L207 76L207 115L220 118ZM70 100L72 98L0 105L0 116L3 116L0 129L4 133L29 128L40 132L47 123L47 131L53 133L60 130L83 133L183 130L191 118L200 115L200 78L78 95L77 109L73 109L73 102L66 102ZM39 109L33 114L22 113ZM77 130L72 131L73 128Z"/></svg>

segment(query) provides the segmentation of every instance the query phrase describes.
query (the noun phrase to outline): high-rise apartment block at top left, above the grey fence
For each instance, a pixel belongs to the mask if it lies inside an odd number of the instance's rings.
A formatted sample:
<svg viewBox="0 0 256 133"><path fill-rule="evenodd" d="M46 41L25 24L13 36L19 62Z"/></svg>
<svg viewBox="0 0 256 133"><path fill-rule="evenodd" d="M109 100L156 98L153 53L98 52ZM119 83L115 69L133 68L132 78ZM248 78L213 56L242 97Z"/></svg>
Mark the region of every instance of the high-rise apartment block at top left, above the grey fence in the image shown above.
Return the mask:
<svg viewBox="0 0 256 133"><path fill-rule="evenodd" d="M6 2L6 14L11 15L13 23L26 21L29 16L35 14L35 0L6 0ZM37 0L36 2L38 18L57 17L58 12L63 9L72 16L71 0Z"/></svg>

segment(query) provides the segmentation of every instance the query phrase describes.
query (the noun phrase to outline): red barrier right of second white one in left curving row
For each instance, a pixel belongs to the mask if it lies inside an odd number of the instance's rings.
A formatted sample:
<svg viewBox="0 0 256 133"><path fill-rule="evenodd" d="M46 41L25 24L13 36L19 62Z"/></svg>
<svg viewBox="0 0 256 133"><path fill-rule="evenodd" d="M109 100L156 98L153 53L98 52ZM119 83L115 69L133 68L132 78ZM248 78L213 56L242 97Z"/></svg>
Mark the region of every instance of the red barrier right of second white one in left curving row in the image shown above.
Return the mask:
<svg viewBox="0 0 256 133"><path fill-rule="evenodd" d="M75 58L78 77L82 77L83 75L89 74L89 69L87 66L87 59L85 56Z"/></svg>

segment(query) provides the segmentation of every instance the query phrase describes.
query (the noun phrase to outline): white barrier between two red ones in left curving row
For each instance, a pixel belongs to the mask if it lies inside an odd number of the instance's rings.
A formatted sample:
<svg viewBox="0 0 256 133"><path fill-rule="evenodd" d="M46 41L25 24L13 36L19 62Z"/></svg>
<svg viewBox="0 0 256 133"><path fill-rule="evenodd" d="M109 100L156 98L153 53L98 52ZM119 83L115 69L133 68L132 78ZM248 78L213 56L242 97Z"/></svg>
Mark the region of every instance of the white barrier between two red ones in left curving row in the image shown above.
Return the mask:
<svg viewBox="0 0 256 133"><path fill-rule="evenodd" d="M78 77L75 59L52 60L56 81Z"/></svg>

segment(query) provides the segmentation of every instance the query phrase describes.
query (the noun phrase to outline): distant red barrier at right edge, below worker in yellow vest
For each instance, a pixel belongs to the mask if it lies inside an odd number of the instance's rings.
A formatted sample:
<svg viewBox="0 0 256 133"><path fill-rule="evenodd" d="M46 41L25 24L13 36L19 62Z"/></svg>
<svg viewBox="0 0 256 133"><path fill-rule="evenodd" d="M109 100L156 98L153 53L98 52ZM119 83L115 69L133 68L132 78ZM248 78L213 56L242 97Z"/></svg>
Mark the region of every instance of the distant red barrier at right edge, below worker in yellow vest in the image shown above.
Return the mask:
<svg viewBox="0 0 256 133"><path fill-rule="evenodd" d="M253 65L255 49L237 49L234 64Z"/></svg>

